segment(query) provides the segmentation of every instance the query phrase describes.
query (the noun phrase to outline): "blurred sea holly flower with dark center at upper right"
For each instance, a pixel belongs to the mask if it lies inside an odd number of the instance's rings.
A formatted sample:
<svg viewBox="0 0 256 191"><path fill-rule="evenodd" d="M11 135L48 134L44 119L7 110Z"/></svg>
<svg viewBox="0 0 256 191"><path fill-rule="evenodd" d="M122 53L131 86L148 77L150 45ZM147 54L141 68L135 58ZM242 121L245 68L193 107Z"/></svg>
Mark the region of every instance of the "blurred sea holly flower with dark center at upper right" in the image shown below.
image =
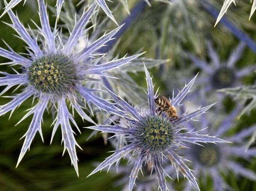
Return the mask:
<svg viewBox="0 0 256 191"><path fill-rule="evenodd" d="M228 60L222 62L211 42L208 41L208 54L211 59L210 64L206 60L199 59L191 53L187 53L187 55L189 59L206 74L200 79L200 82L206 85L207 91L213 91L240 85L240 79L249 75L256 69L255 64L248 65L242 69L238 69L235 66L243 55L244 49L245 44L242 42L239 43L230 54Z"/></svg>

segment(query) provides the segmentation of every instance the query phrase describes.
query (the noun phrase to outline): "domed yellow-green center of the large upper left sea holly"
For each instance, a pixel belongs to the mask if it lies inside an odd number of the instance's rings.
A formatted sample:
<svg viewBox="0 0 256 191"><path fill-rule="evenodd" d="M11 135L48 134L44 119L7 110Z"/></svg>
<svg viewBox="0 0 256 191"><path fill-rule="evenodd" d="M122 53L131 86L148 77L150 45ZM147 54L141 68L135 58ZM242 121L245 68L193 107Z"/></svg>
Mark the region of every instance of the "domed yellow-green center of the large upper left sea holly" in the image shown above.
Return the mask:
<svg viewBox="0 0 256 191"><path fill-rule="evenodd" d="M76 78L73 63L61 54L47 54L34 60L27 75L35 90L48 95L66 94Z"/></svg>

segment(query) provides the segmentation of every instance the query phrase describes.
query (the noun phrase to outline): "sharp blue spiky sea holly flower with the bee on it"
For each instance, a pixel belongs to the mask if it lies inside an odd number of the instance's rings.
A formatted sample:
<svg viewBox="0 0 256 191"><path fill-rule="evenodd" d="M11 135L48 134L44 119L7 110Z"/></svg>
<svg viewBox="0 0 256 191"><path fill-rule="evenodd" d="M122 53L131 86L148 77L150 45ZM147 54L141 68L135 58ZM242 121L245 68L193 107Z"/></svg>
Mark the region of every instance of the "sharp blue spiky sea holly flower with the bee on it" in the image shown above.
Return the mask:
<svg viewBox="0 0 256 191"><path fill-rule="evenodd" d="M182 157L177 154L177 150L179 150L181 146L184 146L184 142L218 143L226 141L209 135L202 135L200 134L201 131L183 133L182 130L184 128L181 126L181 123L193 120L196 116L207 111L211 106L213 106L213 104L199 108L189 114L184 113L183 115L180 115L180 118L177 120L171 120L164 112L156 113L156 94L154 94L152 78L146 68L145 72L148 87L147 109L141 109L140 112L137 112L134 107L130 106L121 97L114 94L112 91L107 90L113 101L117 103L118 109L125 113L123 117L126 119L127 126L123 127L118 123L115 123L114 125L97 125L88 128L102 132L114 133L115 136L123 135L128 144L123 148L116 150L114 154L109 156L95 170L93 170L90 175L107 166L112 166L122 157L131 153L135 157L135 160L133 161L134 166L130 173L130 191L135 184L135 179L144 162L153 164L160 189L162 191L167 190L165 181L166 172L162 166L162 163L166 160L171 160L172 165L176 167L177 173L180 171L189 180L189 182L199 190L196 178L193 176L191 170L185 165ZM181 90L176 97L172 97L172 106L180 107L182 105L181 101L187 93L189 93L195 79L196 77L185 85L183 90Z"/></svg>

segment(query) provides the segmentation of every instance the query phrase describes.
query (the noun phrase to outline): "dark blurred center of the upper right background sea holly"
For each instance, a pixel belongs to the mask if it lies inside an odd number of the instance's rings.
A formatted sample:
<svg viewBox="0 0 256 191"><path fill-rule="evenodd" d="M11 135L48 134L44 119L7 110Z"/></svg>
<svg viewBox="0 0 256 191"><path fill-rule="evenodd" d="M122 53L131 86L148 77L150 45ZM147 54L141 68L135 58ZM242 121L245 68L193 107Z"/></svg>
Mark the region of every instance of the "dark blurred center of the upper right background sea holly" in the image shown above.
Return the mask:
<svg viewBox="0 0 256 191"><path fill-rule="evenodd" d="M235 72L232 68L218 69L212 76L212 85L216 89L232 87L235 82Z"/></svg>

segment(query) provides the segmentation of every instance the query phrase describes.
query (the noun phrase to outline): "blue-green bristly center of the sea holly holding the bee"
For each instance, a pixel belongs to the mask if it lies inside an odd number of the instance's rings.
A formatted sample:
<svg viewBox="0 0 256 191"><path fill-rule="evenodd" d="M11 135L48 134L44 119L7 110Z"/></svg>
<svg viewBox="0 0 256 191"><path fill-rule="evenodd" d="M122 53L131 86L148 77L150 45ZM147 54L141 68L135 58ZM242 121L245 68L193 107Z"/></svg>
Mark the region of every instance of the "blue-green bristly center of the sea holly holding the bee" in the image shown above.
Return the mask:
<svg viewBox="0 0 256 191"><path fill-rule="evenodd" d="M146 152L164 152L174 143L174 126L165 117L142 117L136 129L135 140Z"/></svg>

